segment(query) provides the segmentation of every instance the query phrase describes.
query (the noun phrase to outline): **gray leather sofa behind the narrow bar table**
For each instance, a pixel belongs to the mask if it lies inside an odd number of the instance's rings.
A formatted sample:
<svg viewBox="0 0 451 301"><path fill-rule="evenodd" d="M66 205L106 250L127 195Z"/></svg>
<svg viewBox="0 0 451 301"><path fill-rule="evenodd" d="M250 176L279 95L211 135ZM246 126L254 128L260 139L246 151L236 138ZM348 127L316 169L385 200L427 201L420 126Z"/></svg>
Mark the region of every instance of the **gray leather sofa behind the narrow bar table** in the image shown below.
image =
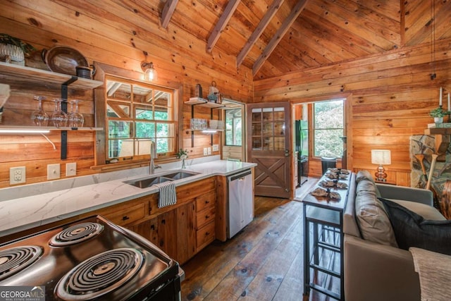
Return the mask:
<svg viewBox="0 0 451 301"><path fill-rule="evenodd" d="M443 221L430 190L376 184L368 171L354 174L355 185L343 216L345 300L421 300L412 254L397 247L387 211L378 197Z"/></svg>

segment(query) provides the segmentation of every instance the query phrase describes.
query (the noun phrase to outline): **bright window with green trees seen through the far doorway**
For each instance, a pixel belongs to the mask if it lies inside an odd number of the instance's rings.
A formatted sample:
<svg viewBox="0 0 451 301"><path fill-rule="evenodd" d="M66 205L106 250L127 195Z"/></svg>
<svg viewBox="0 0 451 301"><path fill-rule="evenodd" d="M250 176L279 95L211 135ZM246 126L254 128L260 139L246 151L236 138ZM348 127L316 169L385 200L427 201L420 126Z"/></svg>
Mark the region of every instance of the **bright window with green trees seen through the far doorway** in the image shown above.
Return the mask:
<svg viewBox="0 0 451 301"><path fill-rule="evenodd" d="M340 158L343 152L341 137L345 128L345 99L313 104L314 156Z"/></svg>

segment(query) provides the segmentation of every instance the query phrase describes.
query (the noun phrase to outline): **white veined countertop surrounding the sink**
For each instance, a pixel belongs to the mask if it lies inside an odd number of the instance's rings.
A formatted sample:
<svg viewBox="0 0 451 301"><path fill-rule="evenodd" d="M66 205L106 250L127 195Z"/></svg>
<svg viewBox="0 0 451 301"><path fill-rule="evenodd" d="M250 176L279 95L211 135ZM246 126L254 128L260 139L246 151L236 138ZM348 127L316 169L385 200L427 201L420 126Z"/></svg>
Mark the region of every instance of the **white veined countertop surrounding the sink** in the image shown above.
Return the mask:
<svg viewBox="0 0 451 301"><path fill-rule="evenodd" d="M199 164L188 164L184 170L198 174L175 180L174 183L179 186L211 176L228 176L254 166L257 166L257 164L219 159ZM176 169L180 168L163 168L161 172L157 169L154 175L157 176ZM51 185L54 183L47 183L45 188L39 189L39 192L46 190L50 192L32 194L32 190L30 190L30 195L25 197L0 199L0 237L158 192L156 187L137 188L123 183L126 180L149 176L149 168L140 168L139 171L130 173L130 175L121 173L120 177L122 178L105 180L101 183L80 184L77 187L71 184L72 187L70 188L53 189L53 191ZM58 184L55 183L55 185ZM34 189L37 190L37 188ZM10 188L1 189L0 194L7 195L8 190ZM20 191L20 187L16 187L15 190ZM22 190L26 190L26 188L22 188ZM16 191L11 190L11 192ZM13 193L13 195L20 194Z"/></svg>

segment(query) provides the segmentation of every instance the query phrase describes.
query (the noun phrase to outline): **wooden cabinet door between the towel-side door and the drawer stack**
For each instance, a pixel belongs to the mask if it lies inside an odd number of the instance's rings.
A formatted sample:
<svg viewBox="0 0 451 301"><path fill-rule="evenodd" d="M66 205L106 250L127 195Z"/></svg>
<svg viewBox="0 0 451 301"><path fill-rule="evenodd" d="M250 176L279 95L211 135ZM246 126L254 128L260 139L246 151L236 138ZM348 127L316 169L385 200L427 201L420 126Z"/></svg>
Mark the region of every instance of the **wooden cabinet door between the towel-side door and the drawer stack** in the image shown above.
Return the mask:
<svg viewBox="0 0 451 301"><path fill-rule="evenodd" d="M196 252L196 231L194 201L176 209L177 211L177 261L183 264Z"/></svg>

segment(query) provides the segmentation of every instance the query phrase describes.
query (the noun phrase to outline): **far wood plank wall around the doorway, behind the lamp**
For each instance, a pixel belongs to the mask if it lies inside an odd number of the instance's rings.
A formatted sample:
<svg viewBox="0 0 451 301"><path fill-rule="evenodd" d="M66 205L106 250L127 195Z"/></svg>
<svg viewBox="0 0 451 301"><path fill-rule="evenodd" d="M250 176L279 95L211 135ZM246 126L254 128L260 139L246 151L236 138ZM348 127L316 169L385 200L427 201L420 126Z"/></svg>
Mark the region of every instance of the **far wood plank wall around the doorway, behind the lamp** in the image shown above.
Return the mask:
<svg viewBox="0 0 451 301"><path fill-rule="evenodd" d="M428 111L438 106L439 88L451 92L450 48L450 39L435 42L435 64L431 43L425 43L256 80L254 102L295 104L347 97L348 168L373 172L371 149L390 149L388 181L409 186L409 137L423 134L433 123ZM430 78L433 72L435 80ZM311 161L310 171L321 173L318 160Z"/></svg>

